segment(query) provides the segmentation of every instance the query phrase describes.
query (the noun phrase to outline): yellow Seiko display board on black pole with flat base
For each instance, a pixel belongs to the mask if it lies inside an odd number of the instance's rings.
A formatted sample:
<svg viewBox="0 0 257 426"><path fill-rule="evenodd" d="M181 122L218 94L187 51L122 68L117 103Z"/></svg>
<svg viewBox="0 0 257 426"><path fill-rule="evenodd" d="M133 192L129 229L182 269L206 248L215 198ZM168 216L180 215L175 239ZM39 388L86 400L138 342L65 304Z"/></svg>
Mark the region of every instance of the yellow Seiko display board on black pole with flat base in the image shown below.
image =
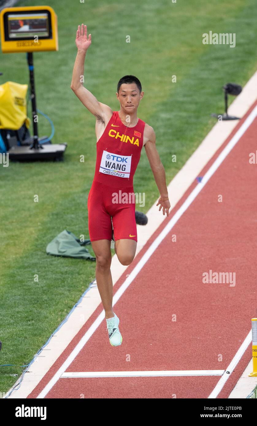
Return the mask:
<svg viewBox="0 0 257 426"><path fill-rule="evenodd" d="M55 11L50 6L6 7L0 12L0 34L3 53L27 53L32 102L34 135L33 138L30 138L31 140L26 140L30 146L12 147L9 150L9 158L18 161L44 159L61 161L67 146L66 142L52 144L49 138L38 138L38 122L35 120L37 106L33 52L58 50L58 28Z"/></svg>

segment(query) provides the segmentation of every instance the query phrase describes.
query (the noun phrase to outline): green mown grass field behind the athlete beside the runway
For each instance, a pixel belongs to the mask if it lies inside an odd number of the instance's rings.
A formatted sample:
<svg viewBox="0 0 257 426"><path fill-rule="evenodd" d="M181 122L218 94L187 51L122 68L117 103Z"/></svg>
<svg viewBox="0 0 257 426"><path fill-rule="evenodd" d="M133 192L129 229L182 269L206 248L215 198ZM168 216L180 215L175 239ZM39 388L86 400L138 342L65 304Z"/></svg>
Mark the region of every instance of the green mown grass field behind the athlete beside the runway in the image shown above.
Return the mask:
<svg viewBox="0 0 257 426"><path fill-rule="evenodd" d="M145 93L138 116L156 132L167 184L215 124L211 113L223 112L223 84L244 86L257 68L255 0L50 3L58 15L59 51L34 55L37 107L54 122L52 142L67 142L68 147L64 162L0 167L0 364L14 364L0 367L1 392L13 385L19 366L32 360L95 278L95 262L46 255L46 245L64 229L89 238L95 118L70 89L78 24L86 23L92 33L85 86L99 101L118 110L119 78L134 74L141 80ZM202 34L210 30L236 33L236 47L203 45ZM0 83L28 83L26 55L1 53L0 71ZM31 118L30 111L29 105ZM39 135L50 132L40 116ZM176 163L171 162L173 154ZM84 163L80 155L85 155ZM145 193L146 205L136 206L144 213L159 196L144 150L134 191ZM93 254L91 246L89 250Z"/></svg>

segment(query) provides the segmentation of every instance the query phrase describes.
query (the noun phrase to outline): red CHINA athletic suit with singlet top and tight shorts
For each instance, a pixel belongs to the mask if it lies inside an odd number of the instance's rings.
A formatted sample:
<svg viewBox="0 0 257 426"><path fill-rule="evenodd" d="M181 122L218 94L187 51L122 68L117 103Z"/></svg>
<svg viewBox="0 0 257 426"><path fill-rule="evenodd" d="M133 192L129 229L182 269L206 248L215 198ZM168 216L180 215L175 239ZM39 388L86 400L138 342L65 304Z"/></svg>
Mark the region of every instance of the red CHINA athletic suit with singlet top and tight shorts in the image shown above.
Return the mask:
<svg viewBox="0 0 257 426"><path fill-rule="evenodd" d="M88 195L90 241L137 241L133 176L143 147L144 121L125 126L114 111L96 144L95 176ZM113 227L112 227L113 223Z"/></svg>

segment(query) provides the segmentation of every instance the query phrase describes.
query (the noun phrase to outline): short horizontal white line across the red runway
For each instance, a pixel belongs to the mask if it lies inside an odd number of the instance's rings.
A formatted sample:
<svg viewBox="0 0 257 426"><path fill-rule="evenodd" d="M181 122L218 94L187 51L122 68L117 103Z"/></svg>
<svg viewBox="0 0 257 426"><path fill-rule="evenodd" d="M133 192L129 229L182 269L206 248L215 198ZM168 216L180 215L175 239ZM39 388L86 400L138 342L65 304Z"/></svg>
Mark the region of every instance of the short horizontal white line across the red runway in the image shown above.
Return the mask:
<svg viewBox="0 0 257 426"><path fill-rule="evenodd" d="M61 379L70 377L170 377L170 376L222 376L225 370L163 370L163 371L75 371L66 372Z"/></svg>

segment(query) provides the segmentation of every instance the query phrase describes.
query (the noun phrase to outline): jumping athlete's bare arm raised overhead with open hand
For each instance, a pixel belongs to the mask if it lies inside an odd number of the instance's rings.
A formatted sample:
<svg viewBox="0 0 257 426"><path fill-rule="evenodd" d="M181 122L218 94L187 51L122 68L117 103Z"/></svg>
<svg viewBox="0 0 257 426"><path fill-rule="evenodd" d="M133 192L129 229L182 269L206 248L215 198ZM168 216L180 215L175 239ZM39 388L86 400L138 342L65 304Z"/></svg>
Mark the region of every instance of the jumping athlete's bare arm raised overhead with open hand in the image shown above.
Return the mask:
<svg viewBox="0 0 257 426"><path fill-rule="evenodd" d="M105 123L110 120L113 113L112 109L108 107L108 105L98 102L95 96L92 95L92 93L84 87L83 82L81 82L82 76L84 76L84 63L87 49L91 44L91 34L87 38L86 25L82 24L81 27L80 25L78 26L75 43L78 48L78 53L73 67L70 87L82 104L95 115L96 119Z"/></svg>

